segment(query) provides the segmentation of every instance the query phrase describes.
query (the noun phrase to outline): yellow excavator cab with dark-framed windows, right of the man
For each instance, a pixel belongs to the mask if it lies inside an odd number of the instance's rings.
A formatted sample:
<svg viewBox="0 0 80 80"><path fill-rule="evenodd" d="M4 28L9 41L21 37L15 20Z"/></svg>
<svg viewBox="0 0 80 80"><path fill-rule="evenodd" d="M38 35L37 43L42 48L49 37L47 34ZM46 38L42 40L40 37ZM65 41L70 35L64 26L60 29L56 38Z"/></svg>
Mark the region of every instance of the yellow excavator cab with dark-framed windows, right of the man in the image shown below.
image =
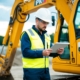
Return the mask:
<svg viewBox="0 0 80 80"><path fill-rule="evenodd" d="M80 74L80 0L73 4L67 25L64 24L64 19L62 14L58 13L54 43L69 42L70 45L64 48L62 55L53 58L52 67L55 71Z"/></svg>

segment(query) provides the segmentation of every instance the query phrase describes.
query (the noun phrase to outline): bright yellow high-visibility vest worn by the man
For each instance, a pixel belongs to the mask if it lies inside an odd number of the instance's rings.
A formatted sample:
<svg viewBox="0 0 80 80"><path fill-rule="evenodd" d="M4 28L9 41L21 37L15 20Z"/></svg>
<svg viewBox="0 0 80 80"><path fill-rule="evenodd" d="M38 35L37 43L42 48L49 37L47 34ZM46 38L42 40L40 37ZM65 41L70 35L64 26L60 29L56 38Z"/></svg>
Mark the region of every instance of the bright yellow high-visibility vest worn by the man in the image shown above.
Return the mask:
<svg viewBox="0 0 80 80"><path fill-rule="evenodd" d="M31 41L31 50L44 49L42 40L33 29L28 29L26 32ZM45 49L47 48L50 48L50 36L45 34ZM23 57L22 61L23 61L23 68L45 68L45 67L48 68L49 67L48 56L47 57L43 56L43 58L24 58Z"/></svg>

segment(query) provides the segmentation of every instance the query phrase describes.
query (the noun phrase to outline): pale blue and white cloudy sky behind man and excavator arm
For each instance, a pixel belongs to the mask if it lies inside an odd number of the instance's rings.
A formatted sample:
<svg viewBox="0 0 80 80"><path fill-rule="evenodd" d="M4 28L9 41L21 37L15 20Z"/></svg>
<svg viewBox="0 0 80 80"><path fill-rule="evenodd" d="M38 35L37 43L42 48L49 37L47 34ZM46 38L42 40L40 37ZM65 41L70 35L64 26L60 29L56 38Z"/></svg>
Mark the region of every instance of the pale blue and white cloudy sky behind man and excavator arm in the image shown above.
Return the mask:
<svg viewBox="0 0 80 80"><path fill-rule="evenodd" d="M8 27L11 8L13 6L14 1L15 0L0 0L0 26L3 26L3 27L0 27L0 35L4 36L6 34L5 32ZM56 13L55 7L50 7L48 9L51 11L52 15L55 15L55 17L57 17L55 14ZM35 23L35 13L31 13L30 18L25 23L23 30L26 30L26 29L32 27L32 25L34 23ZM29 27L26 28L25 26L27 26L27 25ZM47 27L47 31L49 34L51 34L51 33L55 32L55 27L52 26L51 24L49 24Z"/></svg>

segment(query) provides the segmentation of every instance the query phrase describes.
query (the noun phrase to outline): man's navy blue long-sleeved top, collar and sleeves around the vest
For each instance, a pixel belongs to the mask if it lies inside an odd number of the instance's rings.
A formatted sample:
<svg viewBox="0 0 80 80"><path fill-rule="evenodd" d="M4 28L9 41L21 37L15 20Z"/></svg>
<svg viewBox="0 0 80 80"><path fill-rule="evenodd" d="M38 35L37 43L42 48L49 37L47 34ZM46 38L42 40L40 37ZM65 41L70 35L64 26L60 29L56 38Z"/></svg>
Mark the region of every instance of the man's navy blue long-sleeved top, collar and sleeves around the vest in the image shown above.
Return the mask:
<svg viewBox="0 0 80 80"><path fill-rule="evenodd" d="M43 45L45 45L45 37L44 34L47 31L43 31L42 34L40 34L40 32L35 28L35 26L33 25L32 29L34 29L38 35L40 36ZM28 34L25 32L21 38L21 50L22 50L22 55L23 57L27 57L27 58L41 58L43 57L42 52L43 50L31 50L31 42L29 39ZM51 54L51 56L56 57L58 56L58 54Z"/></svg>

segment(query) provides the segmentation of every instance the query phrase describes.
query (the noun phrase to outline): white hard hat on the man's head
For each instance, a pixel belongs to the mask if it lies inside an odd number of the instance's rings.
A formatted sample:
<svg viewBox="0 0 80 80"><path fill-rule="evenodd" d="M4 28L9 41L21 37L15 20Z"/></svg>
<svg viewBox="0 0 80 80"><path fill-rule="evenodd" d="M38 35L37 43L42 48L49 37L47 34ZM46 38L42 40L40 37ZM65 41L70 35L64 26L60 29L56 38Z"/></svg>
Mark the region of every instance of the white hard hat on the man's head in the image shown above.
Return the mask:
<svg viewBox="0 0 80 80"><path fill-rule="evenodd" d="M39 18L45 22L52 23L51 13L47 8L40 8L36 11L36 18Z"/></svg>

